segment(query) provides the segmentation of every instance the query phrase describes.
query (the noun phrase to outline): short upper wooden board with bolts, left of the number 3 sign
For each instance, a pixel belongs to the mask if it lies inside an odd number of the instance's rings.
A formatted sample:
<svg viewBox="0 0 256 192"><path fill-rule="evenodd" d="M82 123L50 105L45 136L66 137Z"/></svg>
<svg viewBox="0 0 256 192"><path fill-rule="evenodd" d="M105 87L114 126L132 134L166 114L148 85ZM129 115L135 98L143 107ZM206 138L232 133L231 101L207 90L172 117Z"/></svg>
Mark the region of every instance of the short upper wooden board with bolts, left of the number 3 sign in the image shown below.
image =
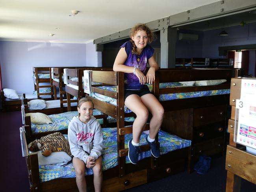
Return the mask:
<svg viewBox="0 0 256 192"><path fill-rule="evenodd" d="M240 99L241 94L241 78L232 78L230 83L230 100L229 104L236 106L236 100Z"/></svg>

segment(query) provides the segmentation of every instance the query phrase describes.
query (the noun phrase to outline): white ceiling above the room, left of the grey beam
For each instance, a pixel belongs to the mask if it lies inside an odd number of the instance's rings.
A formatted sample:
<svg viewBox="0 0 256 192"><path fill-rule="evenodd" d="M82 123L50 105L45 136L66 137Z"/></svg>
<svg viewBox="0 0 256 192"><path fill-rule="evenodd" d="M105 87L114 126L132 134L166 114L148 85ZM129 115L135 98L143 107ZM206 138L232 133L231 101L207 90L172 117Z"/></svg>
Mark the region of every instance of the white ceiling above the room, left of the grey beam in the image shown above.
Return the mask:
<svg viewBox="0 0 256 192"><path fill-rule="evenodd" d="M0 40L85 43L217 1L0 0Z"/></svg>

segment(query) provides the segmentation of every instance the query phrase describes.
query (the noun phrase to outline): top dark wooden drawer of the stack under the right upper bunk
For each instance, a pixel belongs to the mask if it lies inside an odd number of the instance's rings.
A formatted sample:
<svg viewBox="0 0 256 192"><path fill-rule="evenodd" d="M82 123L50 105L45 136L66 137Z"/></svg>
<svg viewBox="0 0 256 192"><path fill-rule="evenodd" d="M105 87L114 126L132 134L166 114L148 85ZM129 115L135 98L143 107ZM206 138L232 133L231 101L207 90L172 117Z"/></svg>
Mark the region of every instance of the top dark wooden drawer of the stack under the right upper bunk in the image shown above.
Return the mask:
<svg viewBox="0 0 256 192"><path fill-rule="evenodd" d="M193 127L220 122L226 118L226 105L194 109Z"/></svg>

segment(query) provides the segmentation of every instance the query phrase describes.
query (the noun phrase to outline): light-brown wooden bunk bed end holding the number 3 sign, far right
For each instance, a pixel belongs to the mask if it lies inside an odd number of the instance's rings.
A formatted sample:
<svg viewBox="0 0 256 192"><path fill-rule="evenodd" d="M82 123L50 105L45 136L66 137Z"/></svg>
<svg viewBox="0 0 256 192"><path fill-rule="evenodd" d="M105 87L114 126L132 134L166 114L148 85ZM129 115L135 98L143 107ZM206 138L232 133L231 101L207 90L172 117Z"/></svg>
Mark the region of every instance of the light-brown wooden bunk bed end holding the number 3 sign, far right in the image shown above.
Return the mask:
<svg viewBox="0 0 256 192"><path fill-rule="evenodd" d="M228 120L230 133L229 145L226 150L226 192L239 192L241 178L256 184L256 155L245 151L245 146L234 142L236 119L236 100L241 96L242 78L232 78L230 86L231 118ZM255 81L255 80L254 80Z"/></svg>

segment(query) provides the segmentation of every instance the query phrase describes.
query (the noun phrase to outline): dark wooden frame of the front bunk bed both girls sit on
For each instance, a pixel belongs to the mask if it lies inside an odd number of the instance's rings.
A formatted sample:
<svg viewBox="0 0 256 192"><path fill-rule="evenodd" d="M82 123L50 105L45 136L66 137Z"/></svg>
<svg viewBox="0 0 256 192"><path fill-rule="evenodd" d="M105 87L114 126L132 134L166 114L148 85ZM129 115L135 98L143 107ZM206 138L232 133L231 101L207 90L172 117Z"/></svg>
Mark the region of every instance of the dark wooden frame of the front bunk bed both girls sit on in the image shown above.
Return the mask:
<svg viewBox="0 0 256 192"><path fill-rule="evenodd" d="M212 90L212 89L226 89L230 86L230 79L233 76L237 76L238 70L232 69L162 69L156 72L156 80L153 83L152 93L158 98L159 94L164 93L176 93L176 92L191 92L197 90ZM82 72L81 72L82 74ZM203 87L176 87L176 88L166 88L159 89L159 82L177 82L177 81L192 81L192 80L206 80L206 79L227 79L227 83L223 85L215 86L203 86ZM98 89L97 87L92 87L93 92L110 96L117 99L117 105L111 105L106 102L101 102L95 98L91 98L95 105L95 109L102 111L105 114L117 118L117 138L118 138L118 166L106 170L103 172L103 191L120 191L143 183L154 181L160 179L167 175L175 174L177 172L183 171L188 166L191 170L192 162L196 159L193 155L198 157L198 154L193 150L196 148L198 143L200 145L209 144L208 140L203 140L198 142L193 137L195 133L195 128L198 126L193 125L193 116L197 115L194 111L205 107L218 107L221 102L226 105L228 102L228 95L216 95L216 96L205 96L201 98L188 98L180 100L171 100L161 102L165 108L165 117L162 129L178 135L185 139L192 140L192 146L189 148L182 148L180 150L171 151L165 155L161 155L160 158L148 157L138 162L138 164L125 164L125 156L128 154L128 149L124 147L124 135L132 133L132 127L124 128L124 117L131 114L124 113L124 73L113 72L113 71L96 71L93 70L91 73L91 80L95 82L104 83L106 85L117 86L117 92L111 92L108 90ZM79 85L78 85L79 86ZM82 90L82 89L80 89ZM77 94L78 98L85 96L80 94L80 90L74 92ZM80 97L81 96L81 97ZM69 97L67 97L69 100ZM212 109L212 108L210 108ZM215 108L214 108L215 109ZM225 109L225 108L224 108ZM191 111L192 110L192 111ZM224 115L222 113L222 115ZM191 120L192 117L192 120ZM172 123L173 122L173 123ZM191 123L191 125L189 125ZM186 129L178 129L178 126L171 127L170 124L179 125ZM199 123L200 125L200 123ZM148 130L148 126L146 130ZM199 126L200 128L200 126ZM26 131L27 134L27 131ZM45 134L45 133L44 133ZM37 134L37 137L39 134ZM219 136L219 135L218 135ZM216 137L216 135L215 135ZM218 140L221 137L210 138L210 143ZM27 142L33 140L35 137L28 137ZM209 138L208 138L209 139ZM205 143L205 141L207 141ZM206 145L206 147L212 147L211 145ZM141 146L142 151L147 151L149 149L148 145ZM216 150L210 149L211 152ZM220 152L222 150L217 150ZM189 159L189 163L186 163L186 159ZM51 181L39 182L39 171L38 171L38 160L37 154L32 153L26 157L28 164L28 173L31 181L31 190L42 190L42 191L58 191L58 190L70 190L76 188L75 178L72 179L54 179ZM90 178L91 176L89 176ZM87 179L89 180L87 177ZM88 181L87 180L87 181ZM87 182L89 185L89 182Z"/></svg>

